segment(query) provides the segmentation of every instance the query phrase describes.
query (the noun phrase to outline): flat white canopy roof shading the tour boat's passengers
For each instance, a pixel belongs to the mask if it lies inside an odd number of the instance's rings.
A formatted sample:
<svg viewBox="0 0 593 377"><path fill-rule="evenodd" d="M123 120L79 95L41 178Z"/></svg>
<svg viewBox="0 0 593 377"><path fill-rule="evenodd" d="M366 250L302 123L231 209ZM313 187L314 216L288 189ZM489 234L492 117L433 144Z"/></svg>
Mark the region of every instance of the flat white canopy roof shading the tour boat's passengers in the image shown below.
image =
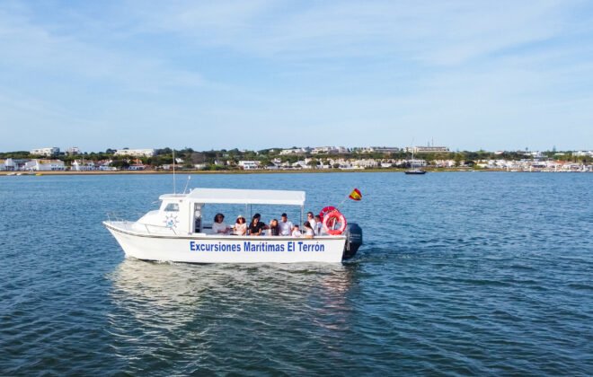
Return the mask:
<svg viewBox="0 0 593 377"><path fill-rule="evenodd" d="M193 189L187 195L195 203L304 206L305 191L271 189Z"/></svg>

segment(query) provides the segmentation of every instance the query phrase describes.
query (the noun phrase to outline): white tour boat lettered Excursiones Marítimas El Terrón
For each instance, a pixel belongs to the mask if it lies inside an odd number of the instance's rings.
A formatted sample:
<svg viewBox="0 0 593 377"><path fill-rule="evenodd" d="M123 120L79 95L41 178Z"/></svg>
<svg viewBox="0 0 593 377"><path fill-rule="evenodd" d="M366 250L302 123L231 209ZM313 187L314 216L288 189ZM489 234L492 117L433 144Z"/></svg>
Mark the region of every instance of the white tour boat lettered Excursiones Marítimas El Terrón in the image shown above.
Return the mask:
<svg viewBox="0 0 593 377"><path fill-rule="evenodd" d="M326 214L325 232L314 238L227 235L213 232L211 224L202 221L208 205L300 206L302 220L305 191L192 189L159 199L158 210L135 222L103 222L127 257L187 263L338 263L353 257L362 244L358 224L346 224L337 210Z"/></svg>

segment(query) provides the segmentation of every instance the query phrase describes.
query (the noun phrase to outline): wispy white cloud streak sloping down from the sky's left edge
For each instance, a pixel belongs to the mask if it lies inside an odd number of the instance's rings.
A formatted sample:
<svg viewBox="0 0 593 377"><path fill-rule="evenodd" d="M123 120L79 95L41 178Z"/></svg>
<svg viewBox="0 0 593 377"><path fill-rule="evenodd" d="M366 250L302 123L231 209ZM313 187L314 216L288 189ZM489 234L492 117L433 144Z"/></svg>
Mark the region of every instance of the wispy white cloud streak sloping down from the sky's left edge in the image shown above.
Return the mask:
<svg viewBox="0 0 593 377"><path fill-rule="evenodd" d="M75 35L52 34L31 21L25 11L0 10L4 70L30 72L40 80L62 75L66 80L106 83L127 91L157 92L167 87L203 85L195 72L168 66L155 57L138 57L126 48L108 48L88 43Z"/></svg>

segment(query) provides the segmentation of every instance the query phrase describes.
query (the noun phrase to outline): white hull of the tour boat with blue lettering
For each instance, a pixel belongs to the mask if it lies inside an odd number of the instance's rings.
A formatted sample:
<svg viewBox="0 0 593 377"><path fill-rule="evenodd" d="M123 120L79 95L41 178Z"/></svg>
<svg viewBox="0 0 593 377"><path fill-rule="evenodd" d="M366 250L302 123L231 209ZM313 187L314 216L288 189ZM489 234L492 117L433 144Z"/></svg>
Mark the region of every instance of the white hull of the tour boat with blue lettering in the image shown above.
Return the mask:
<svg viewBox="0 0 593 377"><path fill-rule="evenodd" d="M134 232L119 222L103 222L126 257L184 263L340 263L345 236L314 239L172 235Z"/></svg>

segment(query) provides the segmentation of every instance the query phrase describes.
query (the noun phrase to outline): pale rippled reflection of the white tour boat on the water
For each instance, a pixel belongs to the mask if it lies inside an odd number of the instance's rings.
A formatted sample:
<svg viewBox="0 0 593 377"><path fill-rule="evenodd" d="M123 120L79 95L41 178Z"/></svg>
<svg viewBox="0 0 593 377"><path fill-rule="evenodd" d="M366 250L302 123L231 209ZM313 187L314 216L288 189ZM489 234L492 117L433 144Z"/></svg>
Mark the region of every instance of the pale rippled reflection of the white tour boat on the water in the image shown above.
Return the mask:
<svg viewBox="0 0 593 377"><path fill-rule="evenodd" d="M140 360L164 362L164 344L182 349L191 360L233 358L232 349L264 357L273 341L278 346L304 336L327 351L352 323L348 296L355 270L351 265L197 266L126 259L109 276L111 346L130 372L142 369ZM202 371L200 365L190 370Z"/></svg>

